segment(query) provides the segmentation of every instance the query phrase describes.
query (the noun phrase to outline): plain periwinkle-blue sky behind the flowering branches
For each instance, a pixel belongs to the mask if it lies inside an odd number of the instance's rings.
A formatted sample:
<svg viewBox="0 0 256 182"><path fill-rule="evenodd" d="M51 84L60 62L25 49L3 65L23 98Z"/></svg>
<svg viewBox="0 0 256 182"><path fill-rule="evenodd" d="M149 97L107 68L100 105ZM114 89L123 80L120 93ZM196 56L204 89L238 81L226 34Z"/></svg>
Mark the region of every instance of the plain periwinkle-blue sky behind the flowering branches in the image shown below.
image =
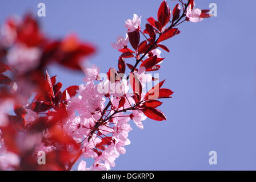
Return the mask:
<svg viewBox="0 0 256 182"><path fill-rule="evenodd" d="M11 14L46 4L46 17L39 18L52 38L76 33L94 43L97 54L89 60L106 72L117 68L119 53L110 46L133 14L157 16L162 1L14 1L0 2L0 22ZM171 8L174 1L167 1ZM161 110L166 122L147 119L143 130L133 126L127 153L116 160L115 170L237 170L256 169L255 123L255 1L197 0L207 9L214 2L218 16L200 23L185 22L181 34L165 45L165 61L159 71L165 88L174 98L165 100ZM127 60L133 64L134 60ZM82 74L53 67L63 85L82 84ZM218 164L209 164L209 151L217 151Z"/></svg>

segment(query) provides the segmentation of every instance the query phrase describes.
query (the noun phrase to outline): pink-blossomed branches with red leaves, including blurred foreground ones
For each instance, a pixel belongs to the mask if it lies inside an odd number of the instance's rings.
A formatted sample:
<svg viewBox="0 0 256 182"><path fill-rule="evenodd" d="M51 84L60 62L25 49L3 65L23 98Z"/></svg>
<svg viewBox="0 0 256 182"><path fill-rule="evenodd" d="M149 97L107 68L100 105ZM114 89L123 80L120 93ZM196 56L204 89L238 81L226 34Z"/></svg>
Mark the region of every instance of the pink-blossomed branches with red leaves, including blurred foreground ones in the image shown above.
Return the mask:
<svg viewBox="0 0 256 182"><path fill-rule="evenodd" d="M7 20L0 39L0 169L70 170L83 156L94 163L87 167L82 160L78 170L109 170L130 144L129 121L143 129L147 117L166 120L157 109L162 105L158 99L171 98L173 92L162 88L165 80L149 74L161 68L161 49L170 52L161 42L179 34L176 26L182 20L199 22L211 16L208 10L194 9L194 1L179 2L171 12L163 1L158 20L147 19L143 31L138 15L126 20L126 38L118 36L111 44L121 52L118 69L110 68L105 77L96 65L81 66L95 51L91 44L75 36L46 38L30 15ZM134 65L126 63L128 58L135 59ZM85 84L62 92L57 76L45 74L53 62L83 71ZM152 81L154 86L145 92ZM12 108L13 114L7 114ZM38 165L42 151L46 164Z"/></svg>

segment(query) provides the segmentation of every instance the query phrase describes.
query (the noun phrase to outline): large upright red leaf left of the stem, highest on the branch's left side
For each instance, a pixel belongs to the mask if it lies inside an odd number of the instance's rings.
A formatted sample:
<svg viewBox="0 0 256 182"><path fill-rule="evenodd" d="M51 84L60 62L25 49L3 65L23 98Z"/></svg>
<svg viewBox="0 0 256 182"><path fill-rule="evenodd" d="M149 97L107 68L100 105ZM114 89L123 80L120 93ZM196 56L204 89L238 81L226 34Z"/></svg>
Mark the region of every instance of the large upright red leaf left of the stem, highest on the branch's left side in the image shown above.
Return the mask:
<svg viewBox="0 0 256 182"><path fill-rule="evenodd" d="M161 24L161 27L164 27L171 18L170 8L167 5L166 1L163 1L158 9L157 13L158 22Z"/></svg>

